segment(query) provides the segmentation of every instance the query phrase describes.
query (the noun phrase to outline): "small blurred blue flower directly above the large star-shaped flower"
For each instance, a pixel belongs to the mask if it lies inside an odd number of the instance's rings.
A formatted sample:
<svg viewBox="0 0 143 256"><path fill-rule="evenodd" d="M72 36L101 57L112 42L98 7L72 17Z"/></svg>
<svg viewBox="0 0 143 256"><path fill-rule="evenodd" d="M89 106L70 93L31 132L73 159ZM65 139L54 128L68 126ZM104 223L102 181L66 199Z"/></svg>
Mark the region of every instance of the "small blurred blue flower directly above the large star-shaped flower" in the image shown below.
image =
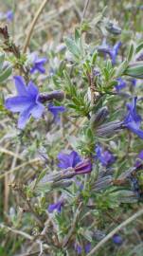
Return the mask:
<svg viewBox="0 0 143 256"><path fill-rule="evenodd" d="M32 67L30 69L30 73L33 74L35 72L40 72L42 74L45 74L45 67L44 64L46 63L47 59L39 58L36 52L33 52L28 57L30 59L30 62L32 64Z"/></svg>

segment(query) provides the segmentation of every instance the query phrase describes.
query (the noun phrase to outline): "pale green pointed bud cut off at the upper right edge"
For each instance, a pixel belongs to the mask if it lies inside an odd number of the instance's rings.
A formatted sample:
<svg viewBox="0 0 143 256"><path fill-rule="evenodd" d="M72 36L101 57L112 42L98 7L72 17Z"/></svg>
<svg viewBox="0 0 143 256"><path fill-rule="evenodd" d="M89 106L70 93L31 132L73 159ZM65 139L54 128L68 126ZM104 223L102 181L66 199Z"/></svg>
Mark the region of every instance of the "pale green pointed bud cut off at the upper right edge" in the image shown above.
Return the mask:
<svg viewBox="0 0 143 256"><path fill-rule="evenodd" d="M136 79L143 79L143 62L129 64L124 71L124 75L134 77Z"/></svg>

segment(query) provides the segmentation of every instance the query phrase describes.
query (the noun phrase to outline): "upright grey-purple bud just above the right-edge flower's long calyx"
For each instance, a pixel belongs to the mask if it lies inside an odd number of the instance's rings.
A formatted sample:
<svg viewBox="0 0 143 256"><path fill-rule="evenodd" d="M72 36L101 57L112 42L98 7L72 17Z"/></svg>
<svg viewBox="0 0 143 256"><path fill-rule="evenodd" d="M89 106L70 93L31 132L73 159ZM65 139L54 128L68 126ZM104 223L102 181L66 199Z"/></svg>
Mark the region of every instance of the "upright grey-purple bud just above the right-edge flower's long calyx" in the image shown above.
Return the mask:
<svg viewBox="0 0 143 256"><path fill-rule="evenodd" d="M90 119L91 129L97 128L107 118L109 112L107 107L102 107L96 114L93 114Z"/></svg>

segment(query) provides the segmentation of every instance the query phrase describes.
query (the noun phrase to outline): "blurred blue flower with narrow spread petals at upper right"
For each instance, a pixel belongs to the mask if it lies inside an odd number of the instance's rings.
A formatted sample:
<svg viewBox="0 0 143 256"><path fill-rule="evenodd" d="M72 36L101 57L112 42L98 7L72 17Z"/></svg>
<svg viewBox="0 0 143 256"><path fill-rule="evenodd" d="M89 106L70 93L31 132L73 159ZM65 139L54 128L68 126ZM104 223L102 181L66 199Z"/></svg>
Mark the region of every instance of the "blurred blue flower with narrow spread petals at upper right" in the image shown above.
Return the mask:
<svg viewBox="0 0 143 256"><path fill-rule="evenodd" d="M116 56L121 46L121 42L117 42L115 46L109 46L106 43L106 39L103 40L102 45L98 46L98 52L103 52L105 54L109 54L112 64L116 64Z"/></svg>

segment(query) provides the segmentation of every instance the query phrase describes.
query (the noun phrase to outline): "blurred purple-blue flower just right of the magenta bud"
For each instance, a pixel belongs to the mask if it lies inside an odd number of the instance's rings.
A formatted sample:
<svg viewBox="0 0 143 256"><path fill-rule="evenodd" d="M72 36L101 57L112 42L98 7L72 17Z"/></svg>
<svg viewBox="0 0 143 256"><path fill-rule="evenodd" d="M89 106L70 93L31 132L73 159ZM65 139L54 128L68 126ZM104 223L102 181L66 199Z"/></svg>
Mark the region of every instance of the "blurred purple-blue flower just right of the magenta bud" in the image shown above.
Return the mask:
<svg viewBox="0 0 143 256"><path fill-rule="evenodd" d="M95 149L96 158L100 161L102 166L107 166L115 161L115 156L112 155L108 150L104 151L100 145Z"/></svg>

